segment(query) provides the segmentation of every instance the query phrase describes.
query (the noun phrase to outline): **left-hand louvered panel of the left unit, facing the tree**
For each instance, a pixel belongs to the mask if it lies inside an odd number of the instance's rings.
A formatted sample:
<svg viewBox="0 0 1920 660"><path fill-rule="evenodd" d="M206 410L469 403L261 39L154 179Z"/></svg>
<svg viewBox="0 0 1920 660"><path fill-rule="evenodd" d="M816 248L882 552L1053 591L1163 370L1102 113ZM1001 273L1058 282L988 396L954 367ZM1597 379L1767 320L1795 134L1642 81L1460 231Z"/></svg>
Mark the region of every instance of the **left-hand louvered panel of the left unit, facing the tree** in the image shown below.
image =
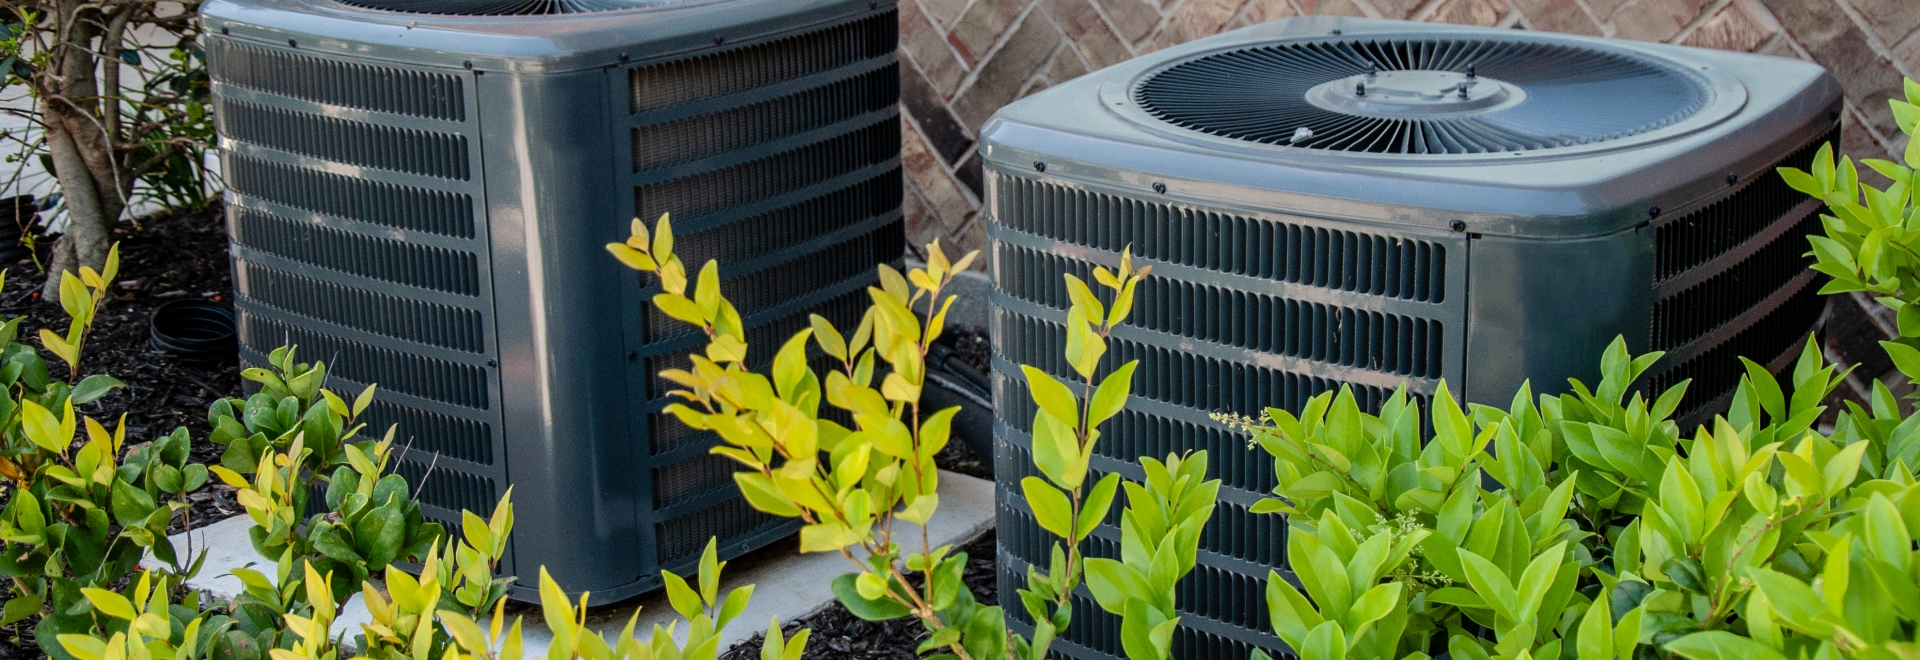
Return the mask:
<svg viewBox="0 0 1920 660"><path fill-rule="evenodd" d="M225 35L207 56L242 359L294 343L334 388L378 384L367 434L397 426L424 514L492 510L507 472L467 81Z"/></svg>

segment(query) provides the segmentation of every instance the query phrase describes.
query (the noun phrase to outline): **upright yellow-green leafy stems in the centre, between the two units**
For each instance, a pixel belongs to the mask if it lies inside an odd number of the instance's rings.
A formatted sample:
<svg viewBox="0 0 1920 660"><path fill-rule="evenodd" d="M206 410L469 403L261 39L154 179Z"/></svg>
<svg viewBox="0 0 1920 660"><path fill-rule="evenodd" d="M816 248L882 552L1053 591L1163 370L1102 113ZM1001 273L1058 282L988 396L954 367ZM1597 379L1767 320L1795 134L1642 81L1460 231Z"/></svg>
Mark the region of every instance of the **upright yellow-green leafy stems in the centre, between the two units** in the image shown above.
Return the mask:
<svg viewBox="0 0 1920 660"><path fill-rule="evenodd" d="M804 522L801 551L841 553L860 568L833 581L833 593L854 616L918 620L929 633L920 652L933 658L1044 658L1071 622L1073 589L1089 578L1102 606L1125 618L1129 652L1171 654L1177 624L1171 589L1192 570L1217 489L1217 482L1204 480L1206 457L1150 460L1146 483L1127 483L1125 560L1091 564L1081 556L1081 541L1119 493L1119 474L1094 478L1089 462L1100 422L1127 405L1135 363L1104 378L1096 378L1096 368L1108 334L1127 318L1135 286L1148 269L1135 271L1131 257L1117 271L1098 269L1094 280L1108 295L1104 301L1087 282L1068 276L1073 309L1066 318L1066 359L1081 378L1079 395L1052 374L1025 368L1039 405L1033 462L1041 476L1021 487L1041 526L1066 541L1054 545L1044 570L1029 568L1027 589L1020 589L1035 622L1027 639L1008 633L1000 606L973 601L960 579L966 553L931 547L925 533L920 549L908 551L895 530L902 520L925 526L939 507L933 455L947 445L958 409L924 412L920 391L927 349L952 305L943 292L977 253L950 261L935 242L924 269L900 274L881 265L879 286L868 288L872 307L851 338L816 315L810 328L780 347L770 372L760 374L747 366L745 330L720 292L720 267L708 261L689 282L664 215L651 228L636 219L630 234L607 249L630 269L653 274L660 288L655 307L708 338L691 355L691 368L660 374L684 388L672 391L680 401L668 411L720 436L724 443L712 453L745 468L733 478L755 508ZM812 351L837 366L812 372L806 366ZM854 426L826 418L822 403ZM1091 572L1091 566L1100 568Z"/></svg>

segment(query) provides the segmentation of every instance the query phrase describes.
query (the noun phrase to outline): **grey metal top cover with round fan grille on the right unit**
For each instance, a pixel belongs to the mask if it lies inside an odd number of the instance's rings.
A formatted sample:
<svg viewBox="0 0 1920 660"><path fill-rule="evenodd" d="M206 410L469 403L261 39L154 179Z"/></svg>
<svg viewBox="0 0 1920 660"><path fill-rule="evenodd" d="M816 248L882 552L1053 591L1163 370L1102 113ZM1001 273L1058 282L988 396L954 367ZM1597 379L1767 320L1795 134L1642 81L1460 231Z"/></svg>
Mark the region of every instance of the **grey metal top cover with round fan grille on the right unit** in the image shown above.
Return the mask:
<svg viewBox="0 0 1920 660"><path fill-rule="evenodd" d="M1824 134L1839 86L1753 54L1300 17L1006 106L1000 167L1250 207L1592 236L1726 190Z"/></svg>

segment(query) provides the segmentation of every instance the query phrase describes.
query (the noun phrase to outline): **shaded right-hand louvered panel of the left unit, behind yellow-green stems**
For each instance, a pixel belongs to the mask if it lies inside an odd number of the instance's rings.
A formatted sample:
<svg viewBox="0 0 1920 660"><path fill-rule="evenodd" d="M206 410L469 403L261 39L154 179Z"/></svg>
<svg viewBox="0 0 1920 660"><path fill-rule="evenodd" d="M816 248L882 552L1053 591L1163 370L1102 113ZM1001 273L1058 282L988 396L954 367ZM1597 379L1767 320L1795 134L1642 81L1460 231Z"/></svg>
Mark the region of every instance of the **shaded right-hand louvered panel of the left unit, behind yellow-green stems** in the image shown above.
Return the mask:
<svg viewBox="0 0 1920 660"><path fill-rule="evenodd" d="M858 324L874 265L904 249L897 25L883 12L624 75L634 217L672 213L682 261L720 261L751 366L764 368L808 315ZM641 288L645 299L659 282ZM789 533L793 520L739 499L732 468L707 455L710 432L659 412L676 386L657 374L684 368L699 332L651 307L639 317L630 378L647 399L634 428L647 430L639 462L653 485L639 497L651 499L659 566L684 568L708 537L726 553Z"/></svg>

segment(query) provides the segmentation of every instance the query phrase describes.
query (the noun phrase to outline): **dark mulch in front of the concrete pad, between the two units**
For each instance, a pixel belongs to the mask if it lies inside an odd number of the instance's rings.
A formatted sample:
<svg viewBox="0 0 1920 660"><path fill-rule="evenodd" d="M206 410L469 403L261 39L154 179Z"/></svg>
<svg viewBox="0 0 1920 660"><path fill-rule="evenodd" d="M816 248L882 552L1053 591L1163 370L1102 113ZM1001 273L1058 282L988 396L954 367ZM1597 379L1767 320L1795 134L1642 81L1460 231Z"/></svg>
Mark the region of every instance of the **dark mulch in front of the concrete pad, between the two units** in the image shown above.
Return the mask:
<svg viewBox="0 0 1920 660"><path fill-rule="evenodd" d="M973 589L973 599L985 604L1000 602L993 547L993 531L960 547L968 554L966 585ZM912 660L918 658L914 648L927 639L927 629L918 620L862 622L839 602L828 606L826 612L781 622L781 631L789 639L803 627L814 631L812 641L806 643L804 660ZM722 654L720 660L758 660L764 639L764 633L756 633Z"/></svg>

